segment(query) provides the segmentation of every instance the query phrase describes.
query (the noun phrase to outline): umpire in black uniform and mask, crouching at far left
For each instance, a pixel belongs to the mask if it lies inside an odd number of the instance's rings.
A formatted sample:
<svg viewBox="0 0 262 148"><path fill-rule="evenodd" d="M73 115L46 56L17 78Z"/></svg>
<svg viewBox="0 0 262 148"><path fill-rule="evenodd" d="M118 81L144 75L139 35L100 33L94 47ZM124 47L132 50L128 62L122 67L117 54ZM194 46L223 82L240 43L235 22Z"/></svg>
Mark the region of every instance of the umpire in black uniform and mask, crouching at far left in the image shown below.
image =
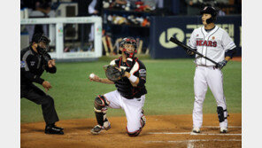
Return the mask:
<svg viewBox="0 0 262 148"><path fill-rule="evenodd" d="M42 34L33 35L30 46L23 49L20 54L20 77L21 96L37 105L42 105L42 115L46 122L46 134L63 135L63 128L55 125L59 121L55 109L54 99L36 87L33 82L37 82L47 91L50 90L50 82L41 78L44 70L50 74L57 72L55 59L51 59L47 53L50 39Z"/></svg>

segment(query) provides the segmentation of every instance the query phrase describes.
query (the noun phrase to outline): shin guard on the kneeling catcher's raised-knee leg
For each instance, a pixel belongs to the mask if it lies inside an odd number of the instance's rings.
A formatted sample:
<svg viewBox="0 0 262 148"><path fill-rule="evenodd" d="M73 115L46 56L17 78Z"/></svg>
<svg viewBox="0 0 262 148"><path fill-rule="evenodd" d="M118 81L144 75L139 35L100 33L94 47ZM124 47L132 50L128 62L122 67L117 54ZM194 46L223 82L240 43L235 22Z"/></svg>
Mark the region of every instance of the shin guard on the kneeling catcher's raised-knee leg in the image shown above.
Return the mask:
<svg viewBox="0 0 262 148"><path fill-rule="evenodd" d="M106 100L104 96L98 95L95 98L95 113L96 113L96 121L97 123L104 127L104 129L110 129L110 123L106 118L107 106L109 102Z"/></svg>

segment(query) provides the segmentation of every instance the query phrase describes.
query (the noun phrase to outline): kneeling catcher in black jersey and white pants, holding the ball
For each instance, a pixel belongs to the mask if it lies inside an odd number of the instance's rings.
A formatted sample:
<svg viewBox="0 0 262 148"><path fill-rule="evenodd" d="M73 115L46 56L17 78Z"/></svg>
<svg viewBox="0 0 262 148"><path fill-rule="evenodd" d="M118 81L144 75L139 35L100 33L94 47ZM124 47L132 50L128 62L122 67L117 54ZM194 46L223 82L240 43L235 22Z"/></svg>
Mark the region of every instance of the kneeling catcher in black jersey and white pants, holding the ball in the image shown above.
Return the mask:
<svg viewBox="0 0 262 148"><path fill-rule="evenodd" d="M104 66L107 78L89 77L90 81L115 84L117 90L98 95L95 98L96 125L91 133L108 130L111 124L106 118L107 108L122 108L127 116L128 136L138 136L145 125L143 104L145 100L146 68L135 57L137 43L133 37L127 37L119 44L121 56L112 60L110 66Z"/></svg>

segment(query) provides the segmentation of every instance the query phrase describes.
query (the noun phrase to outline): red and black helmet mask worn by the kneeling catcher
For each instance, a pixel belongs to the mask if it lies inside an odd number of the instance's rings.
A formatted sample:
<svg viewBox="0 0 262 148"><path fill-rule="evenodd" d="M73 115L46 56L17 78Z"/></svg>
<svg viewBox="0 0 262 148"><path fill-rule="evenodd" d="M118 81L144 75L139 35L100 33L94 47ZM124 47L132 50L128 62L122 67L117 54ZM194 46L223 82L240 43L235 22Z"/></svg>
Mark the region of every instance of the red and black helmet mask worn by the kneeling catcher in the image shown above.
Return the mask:
<svg viewBox="0 0 262 148"><path fill-rule="evenodd" d="M125 44L131 44L134 46L135 50L130 52L127 51L127 49L124 47ZM135 57L135 53L136 51L136 47L137 47L137 43L135 41L135 38L133 37L126 37L124 38L121 43L120 43L120 47L122 48L122 51L125 53L125 55L127 56L127 58L134 58ZM119 50L119 54L122 53L122 51Z"/></svg>

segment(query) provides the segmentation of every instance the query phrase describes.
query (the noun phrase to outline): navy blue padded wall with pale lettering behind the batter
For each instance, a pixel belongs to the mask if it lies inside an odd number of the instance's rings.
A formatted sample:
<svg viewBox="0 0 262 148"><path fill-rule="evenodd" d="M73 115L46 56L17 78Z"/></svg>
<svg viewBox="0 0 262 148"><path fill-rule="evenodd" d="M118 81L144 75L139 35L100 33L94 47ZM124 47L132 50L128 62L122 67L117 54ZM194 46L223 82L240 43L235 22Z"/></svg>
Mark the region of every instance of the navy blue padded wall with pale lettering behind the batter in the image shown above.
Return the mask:
<svg viewBox="0 0 262 148"><path fill-rule="evenodd" d="M151 58L189 58L181 47L169 42L169 38L175 37L187 43L193 30L202 26L200 16L151 17L150 22ZM242 16L218 17L216 25L227 31L237 47L235 56L241 56Z"/></svg>

